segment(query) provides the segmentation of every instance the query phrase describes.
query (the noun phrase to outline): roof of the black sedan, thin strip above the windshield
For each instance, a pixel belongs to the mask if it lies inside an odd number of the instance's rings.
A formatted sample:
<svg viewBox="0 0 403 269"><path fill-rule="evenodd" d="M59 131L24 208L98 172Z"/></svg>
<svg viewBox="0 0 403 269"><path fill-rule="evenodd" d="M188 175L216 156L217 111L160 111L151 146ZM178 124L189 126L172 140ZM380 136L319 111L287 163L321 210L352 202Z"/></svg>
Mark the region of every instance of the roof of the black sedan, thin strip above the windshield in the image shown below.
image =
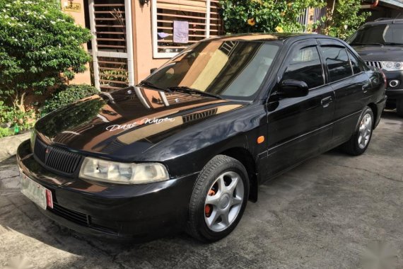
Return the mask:
<svg viewBox="0 0 403 269"><path fill-rule="evenodd" d="M281 41L286 40L303 40L308 38L332 38L327 35L318 35L313 33L247 33L235 35L222 35L208 40L223 40L223 41Z"/></svg>

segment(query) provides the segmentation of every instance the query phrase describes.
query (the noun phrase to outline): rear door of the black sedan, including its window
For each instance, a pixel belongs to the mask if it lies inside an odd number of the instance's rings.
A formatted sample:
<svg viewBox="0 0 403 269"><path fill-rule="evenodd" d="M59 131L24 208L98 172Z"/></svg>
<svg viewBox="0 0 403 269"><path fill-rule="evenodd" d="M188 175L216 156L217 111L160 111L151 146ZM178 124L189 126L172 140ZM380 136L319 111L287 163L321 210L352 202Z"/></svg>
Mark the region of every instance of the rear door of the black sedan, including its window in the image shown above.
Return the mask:
<svg viewBox="0 0 403 269"><path fill-rule="evenodd" d="M369 98L368 74L358 58L337 40L319 40L326 64L327 81L335 94L334 127L329 149L345 142L353 134L358 118Z"/></svg>

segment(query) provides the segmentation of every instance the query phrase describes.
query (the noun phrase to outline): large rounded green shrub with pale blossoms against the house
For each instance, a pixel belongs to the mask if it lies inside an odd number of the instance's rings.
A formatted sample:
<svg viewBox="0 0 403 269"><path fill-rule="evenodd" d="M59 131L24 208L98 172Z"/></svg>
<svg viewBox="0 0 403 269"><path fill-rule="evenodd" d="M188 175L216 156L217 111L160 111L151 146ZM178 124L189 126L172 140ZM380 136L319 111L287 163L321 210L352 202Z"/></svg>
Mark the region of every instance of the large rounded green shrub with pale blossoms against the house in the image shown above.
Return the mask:
<svg viewBox="0 0 403 269"><path fill-rule="evenodd" d="M28 94L73 79L86 70L90 38L58 0L0 0L0 97L24 111Z"/></svg>

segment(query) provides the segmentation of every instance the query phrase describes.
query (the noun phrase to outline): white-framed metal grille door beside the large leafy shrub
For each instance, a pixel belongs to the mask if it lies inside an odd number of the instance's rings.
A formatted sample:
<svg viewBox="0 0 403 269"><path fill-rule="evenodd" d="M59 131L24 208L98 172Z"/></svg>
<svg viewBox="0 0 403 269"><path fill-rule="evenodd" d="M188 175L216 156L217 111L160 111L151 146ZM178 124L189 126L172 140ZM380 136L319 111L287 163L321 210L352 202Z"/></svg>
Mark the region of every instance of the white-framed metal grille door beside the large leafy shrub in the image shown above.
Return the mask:
<svg viewBox="0 0 403 269"><path fill-rule="evenodd" d="M95 87L110 91L134 85L129 0L89 0Z"/></svg>

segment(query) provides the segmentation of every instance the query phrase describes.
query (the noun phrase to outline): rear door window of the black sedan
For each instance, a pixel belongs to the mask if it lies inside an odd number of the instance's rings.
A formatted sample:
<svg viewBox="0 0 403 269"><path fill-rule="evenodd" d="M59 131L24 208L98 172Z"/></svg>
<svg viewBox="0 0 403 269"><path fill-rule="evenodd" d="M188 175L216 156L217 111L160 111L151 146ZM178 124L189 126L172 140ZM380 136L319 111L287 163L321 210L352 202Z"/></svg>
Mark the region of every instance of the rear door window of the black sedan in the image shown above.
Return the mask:
<svg viewBox="0 0 403 269"><path fill-rule="evenodd" d="M323 57L329 69L330 82L353 75L349 56L344 47L321 47Z"/></svg>

